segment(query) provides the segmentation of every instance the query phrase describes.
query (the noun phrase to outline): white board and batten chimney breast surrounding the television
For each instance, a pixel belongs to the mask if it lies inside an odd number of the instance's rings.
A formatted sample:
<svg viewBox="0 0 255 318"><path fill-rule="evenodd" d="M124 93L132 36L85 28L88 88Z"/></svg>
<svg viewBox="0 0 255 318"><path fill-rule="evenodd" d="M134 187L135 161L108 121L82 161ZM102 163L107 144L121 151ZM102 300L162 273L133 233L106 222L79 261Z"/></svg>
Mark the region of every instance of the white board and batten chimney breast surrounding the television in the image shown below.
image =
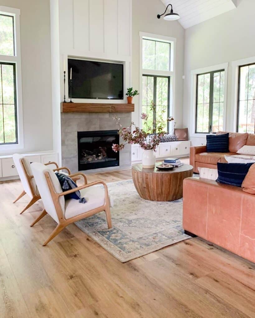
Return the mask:
<svg viewBox="0 0 255 318"><path fill-rule="evenodd" d="M52 67L54 150L61 158L60 102L63 100L63 65L68 57L115 61L124 65L124 94L131 86L132 63L132 0L50 0L54 60ZM58 52L59 49L59 52ZM66 67L67 68L67 67ZM66 70L67 71L67 70ZM67 74L66 74L67 78ZM74 83L73 83L74 85ZM68 98L66 81L66 97ZM59 95L60 91L60 95ZM98 102L93 99L74 99L74 102ZM102 100L104 103L126 103L123 100Z"/></svg>

